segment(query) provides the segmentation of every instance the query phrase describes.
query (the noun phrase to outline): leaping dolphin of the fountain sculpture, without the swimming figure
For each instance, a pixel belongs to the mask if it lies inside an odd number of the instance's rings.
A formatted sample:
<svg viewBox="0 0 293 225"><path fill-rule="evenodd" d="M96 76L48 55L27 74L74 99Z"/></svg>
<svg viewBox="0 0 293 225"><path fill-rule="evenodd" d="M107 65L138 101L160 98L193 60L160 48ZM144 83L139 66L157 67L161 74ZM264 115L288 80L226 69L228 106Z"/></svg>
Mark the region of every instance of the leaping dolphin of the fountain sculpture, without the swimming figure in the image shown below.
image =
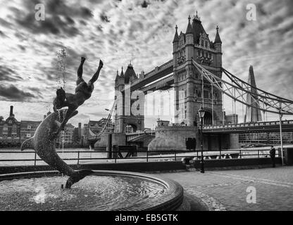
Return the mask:
<svg viewBox="0 0 293 225"><path fill-rule="evenodd" d="M62 112L62 110L59 110L59 112L60 111ZM71 117L76 114L77 111L75 111ZM59 172L69 176L69 179L66 181L66 188L70 188L77 181L92 174L93 171L90 169L75 171L56 153L56 139L50 140L50 136L56 132L60 126L61 122L58 121L58 111L51 113L43 122L41 122L41 124L39 124L39 127L37 127L37 130L35 131L35 135L23 142L20 150L25 150L27 148L34 149L37 155L39 155L39 158L44 160L44 162L51 167L56 168Z"/></svg>

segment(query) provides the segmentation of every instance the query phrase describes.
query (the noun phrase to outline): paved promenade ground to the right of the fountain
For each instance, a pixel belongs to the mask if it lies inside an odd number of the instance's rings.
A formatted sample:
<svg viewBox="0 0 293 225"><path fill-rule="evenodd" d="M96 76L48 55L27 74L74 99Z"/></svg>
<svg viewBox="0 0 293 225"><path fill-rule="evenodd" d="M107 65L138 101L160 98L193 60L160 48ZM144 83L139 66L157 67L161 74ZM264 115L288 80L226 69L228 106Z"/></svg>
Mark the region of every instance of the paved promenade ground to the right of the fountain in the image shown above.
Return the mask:
<svg viewBox="0 0 293 225"><path fill-rule="evenodd" d="M157 175L180 183L185 192L200 198L209 210L293 210L293 167ZM256 191L256 203L247 203L251 193L247 188L251 187Z"/></svg>

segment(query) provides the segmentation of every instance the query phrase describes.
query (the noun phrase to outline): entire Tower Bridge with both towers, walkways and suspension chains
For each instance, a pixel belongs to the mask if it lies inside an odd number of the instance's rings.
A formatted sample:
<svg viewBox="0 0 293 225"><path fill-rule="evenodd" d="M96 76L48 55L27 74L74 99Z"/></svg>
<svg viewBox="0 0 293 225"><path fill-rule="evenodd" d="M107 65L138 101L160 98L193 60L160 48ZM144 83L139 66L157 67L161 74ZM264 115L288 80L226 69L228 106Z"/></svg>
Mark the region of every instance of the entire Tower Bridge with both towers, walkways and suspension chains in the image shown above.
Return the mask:
<svg viewBox="0 0 293 225"><path fill-rule="evenodd" d="M135 142L147 139L144 143L149 150L186 150L187 139L199 140L198 110L202 106L204 115L204 134L207 145L211 134L214 139L213 148L218 150L219 144L228 143L228 148L238 148L237 135L250 131L277 131L280 122L262 123L265 113L293 115L293 101L275 96L256 88L254 72L249 68L249 82L244 82L222 67L222 41L218 26L215 38L211 41L204 30L198 15L190 16L186 32L177 32L173 39L173 59L168 60L151 72L140 75L135 73L130 63L125 72L123 68L117 71L115 79L115 101L111 115L115 117L113 139L117 144L125 145L126 141ZM225 76L227 79L223 79ZM149 91L174 90L173 124L162 123L156 127L156 136L144 134L144 98ZM244 124L234 124L225 127L223 112L223 95L232 99L232 111L236 114L236 103L245 105L246 116ZM110 117L111 117L110 115ZM155 116L155 115L154 115ZM256 123L251 123L256 122ZM292 122L292 121L291 121ZM284 131L293 131L292 123L283 125ZM125 136L127 127L132 127L132 134ZM138 134L138 135L137 135ZM143 134L142 136L139 136ZM101 134L92 136L97 140ZM151 139L149 139L151 138ZM103 139L103 138L101 138ZM105 139L106 140L106 139ZM218 141L217 141L218 140ZM199 141L197 141L197 148ZM105 145L105 141L97 141L96 146ZM144 146L144 147L146 147Z"/></svg>

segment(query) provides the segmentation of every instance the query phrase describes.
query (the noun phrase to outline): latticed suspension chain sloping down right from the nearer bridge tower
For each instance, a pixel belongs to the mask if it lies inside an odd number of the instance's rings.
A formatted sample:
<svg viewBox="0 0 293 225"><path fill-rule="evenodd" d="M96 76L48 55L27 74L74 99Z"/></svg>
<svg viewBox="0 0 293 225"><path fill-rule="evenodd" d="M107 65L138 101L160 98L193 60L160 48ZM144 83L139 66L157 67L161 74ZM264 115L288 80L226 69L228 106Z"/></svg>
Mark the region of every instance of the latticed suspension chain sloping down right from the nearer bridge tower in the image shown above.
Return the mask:
<svg viewBox="0 0 293 225"><path fill-rule="evenodd" d="M232 98L234 101L247 105L248 107L258 108L267 113L293 115L293 101L280 96L275 96L251 86L242 79L232 75L232 73L228 72L224 68L222 68L222 71L230 79L229 82L213 75L195 60L192 60L192 63L204 79L210 82L213 87L221 91L223 94ZM252 93L252 89L256 91ZM251 95L251 101L247 101L245 98L247 94Z"/></svg>

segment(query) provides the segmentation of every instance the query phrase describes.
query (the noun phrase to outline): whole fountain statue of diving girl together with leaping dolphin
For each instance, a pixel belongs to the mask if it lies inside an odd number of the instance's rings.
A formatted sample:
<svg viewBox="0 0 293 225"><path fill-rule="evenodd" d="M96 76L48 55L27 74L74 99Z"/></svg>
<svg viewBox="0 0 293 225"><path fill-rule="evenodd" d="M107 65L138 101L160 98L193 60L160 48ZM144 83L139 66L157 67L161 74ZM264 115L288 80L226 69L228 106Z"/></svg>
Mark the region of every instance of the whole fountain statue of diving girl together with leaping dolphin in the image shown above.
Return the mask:
<svg viewBox="0 0 293 225"><path fill-rule="evenodd" d="M75 171L64 162L59 155L56 153L56 138L61 130L64 129L66 123L71 117L77 115L77 108L82 105L87 99L92 96L94 90L94 82L99 78L99 73L103 67L103 62L100 60L99 68L93 75L89 82L85 82L82 78L82 66L85 63L85 58L81 58L80 66L77 69L77 86L75 88L75 94L66 93L62 87L56 91L56 98L54 99L54 113L51 113L44 119L37 130L35 135L23 142L20 149L25 150L32 148L36 151L39 158L44 160L51 167L58 169L59 172L69 176L66 181L66 188L70 188L74 183L80 181L85 176L92 174L93 171L90 169L82 169ZM68 107L66 115L62 122L58 121L59 113L62 108ZM62 110L63 111L63 110ZM63 112L61 112L63 114Z"/></svg>

